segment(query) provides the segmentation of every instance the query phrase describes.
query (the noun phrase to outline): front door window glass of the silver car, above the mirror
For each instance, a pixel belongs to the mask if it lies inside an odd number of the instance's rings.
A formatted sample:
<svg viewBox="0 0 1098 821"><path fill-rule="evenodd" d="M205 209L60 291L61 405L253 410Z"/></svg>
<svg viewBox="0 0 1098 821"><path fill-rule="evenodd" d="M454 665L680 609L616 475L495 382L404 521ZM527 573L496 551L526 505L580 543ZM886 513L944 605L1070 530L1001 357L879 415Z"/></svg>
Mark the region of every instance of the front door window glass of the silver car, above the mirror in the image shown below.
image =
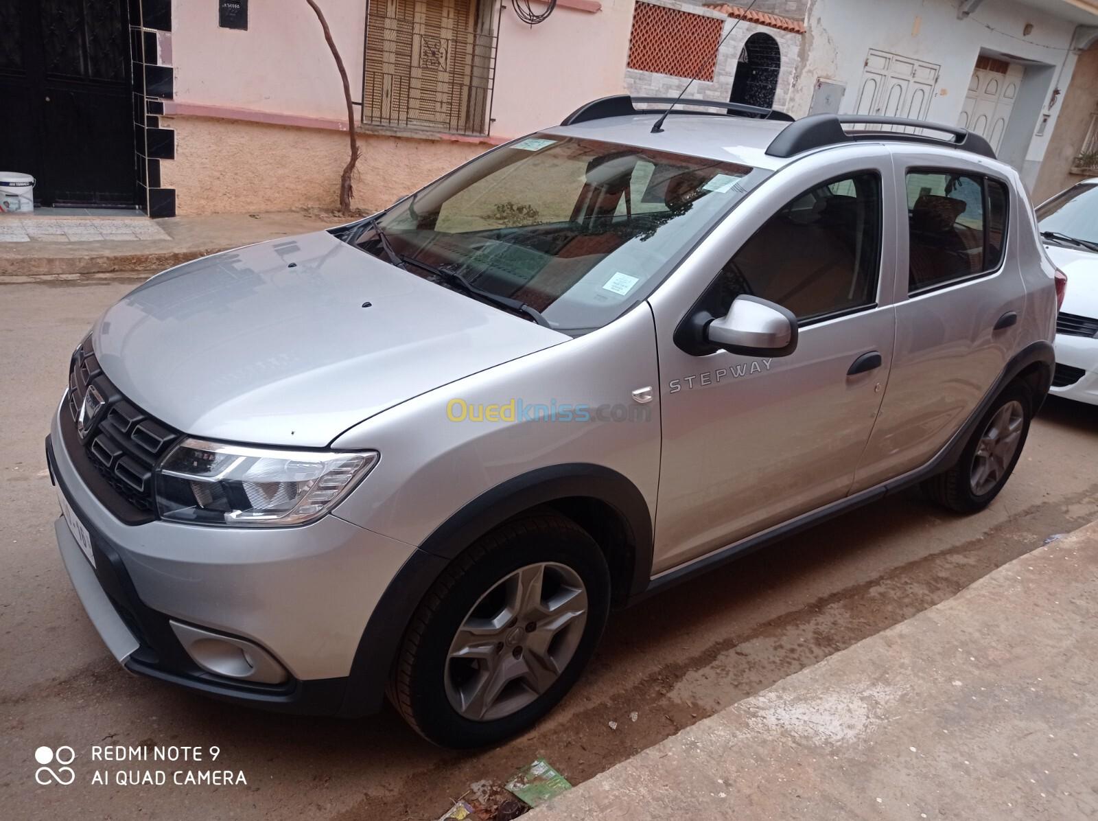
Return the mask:
<svg viewBox="0 0 1098 821"><path fill-rule="evenodd" d="M844 177L800 194L743 244L720 271L716 306L722 314L749 294L804 324L874 304L879 268L881 178Z"/></svg>

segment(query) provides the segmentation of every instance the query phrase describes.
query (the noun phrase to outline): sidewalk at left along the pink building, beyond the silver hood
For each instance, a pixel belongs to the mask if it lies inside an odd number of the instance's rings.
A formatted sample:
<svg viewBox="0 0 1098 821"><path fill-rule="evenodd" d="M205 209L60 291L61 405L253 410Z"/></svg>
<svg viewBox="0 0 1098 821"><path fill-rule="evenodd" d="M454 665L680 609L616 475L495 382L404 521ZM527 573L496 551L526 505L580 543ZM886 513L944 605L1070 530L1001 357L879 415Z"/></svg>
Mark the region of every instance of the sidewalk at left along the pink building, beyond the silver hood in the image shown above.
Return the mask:
<svg viewBox="0 0 1098 821"><path fill-rule="evenodd" d="M0 229L5 220L18 214L0 215ZM348 223L356 217L339 217L332 212L280 212L257 214L210 214L177 216L167 220L127 217L30 217L43 230L34 232L30 241L0 243L0 282L25 282L42 278L72 278L81 274L116 271L159 271L208 254L227 248L321 230ZM65 227L79 224L79 230ZM131 241L92 239L97 233L88 226L104 226L104 233L133 224L136 228L159 230L132 233ZM143 238L142 233L156 238Z"/></svg>

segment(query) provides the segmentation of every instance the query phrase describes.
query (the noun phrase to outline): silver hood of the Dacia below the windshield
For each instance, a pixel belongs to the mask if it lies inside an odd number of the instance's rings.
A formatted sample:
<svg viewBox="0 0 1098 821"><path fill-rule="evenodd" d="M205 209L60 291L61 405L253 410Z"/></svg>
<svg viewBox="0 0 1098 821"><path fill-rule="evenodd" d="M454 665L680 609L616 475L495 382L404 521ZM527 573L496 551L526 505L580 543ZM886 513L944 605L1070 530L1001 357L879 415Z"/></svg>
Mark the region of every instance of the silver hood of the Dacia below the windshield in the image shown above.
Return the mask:
<svg viewBox="0 0 1098 821"><path fill-rule="evenodd" d="M324 447L385 408L568 339L318 232L165 271L108 308L92 342L119 391L175 428Z"/></svg>

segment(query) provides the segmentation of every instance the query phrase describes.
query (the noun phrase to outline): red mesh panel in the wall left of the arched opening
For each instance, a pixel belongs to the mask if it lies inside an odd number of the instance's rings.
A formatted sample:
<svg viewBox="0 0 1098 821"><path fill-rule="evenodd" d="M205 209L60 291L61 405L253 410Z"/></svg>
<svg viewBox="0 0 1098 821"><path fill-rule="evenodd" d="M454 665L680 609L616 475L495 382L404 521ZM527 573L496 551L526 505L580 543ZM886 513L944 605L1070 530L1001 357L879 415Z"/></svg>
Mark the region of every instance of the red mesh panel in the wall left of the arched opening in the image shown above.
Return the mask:
<svg viewBox="0 0 1098 821"><path fill-rule="evenodd" d="M713 80L725 21L637 3L629 38L629 68L695 80Z"/></svg>

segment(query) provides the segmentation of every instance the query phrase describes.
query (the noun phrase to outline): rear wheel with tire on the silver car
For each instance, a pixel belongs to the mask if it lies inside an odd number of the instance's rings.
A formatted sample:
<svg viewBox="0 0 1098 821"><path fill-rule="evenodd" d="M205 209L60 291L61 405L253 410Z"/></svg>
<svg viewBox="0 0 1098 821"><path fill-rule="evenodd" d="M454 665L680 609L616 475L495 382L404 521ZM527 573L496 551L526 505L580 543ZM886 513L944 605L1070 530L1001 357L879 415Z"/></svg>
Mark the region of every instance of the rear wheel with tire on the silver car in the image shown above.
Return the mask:
<svg viewBox="0 0 1098 821"><path fill-rule="evenodd" d="M1032 408L1030 391L1021 383L1009 385L981 418L956 464L922 483L923 494L962 514L991 504L1026 446Z"/></svg>

